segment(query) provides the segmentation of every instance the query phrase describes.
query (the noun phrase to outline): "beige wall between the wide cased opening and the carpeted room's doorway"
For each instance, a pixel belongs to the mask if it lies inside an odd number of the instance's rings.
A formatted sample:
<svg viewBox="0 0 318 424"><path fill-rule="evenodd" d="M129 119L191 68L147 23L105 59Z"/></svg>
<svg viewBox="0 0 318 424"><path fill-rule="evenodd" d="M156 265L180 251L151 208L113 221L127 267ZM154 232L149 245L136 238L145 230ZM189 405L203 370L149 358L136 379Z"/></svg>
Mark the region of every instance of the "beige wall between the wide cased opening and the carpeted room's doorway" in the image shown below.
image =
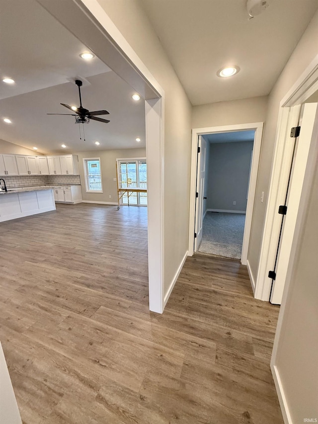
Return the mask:
<svg viewBox="0 0 318 424"><path fill-rule="evenodd" d="M164 294L187 252L191 104L139 1L99 0L164 90Z"/></svg>

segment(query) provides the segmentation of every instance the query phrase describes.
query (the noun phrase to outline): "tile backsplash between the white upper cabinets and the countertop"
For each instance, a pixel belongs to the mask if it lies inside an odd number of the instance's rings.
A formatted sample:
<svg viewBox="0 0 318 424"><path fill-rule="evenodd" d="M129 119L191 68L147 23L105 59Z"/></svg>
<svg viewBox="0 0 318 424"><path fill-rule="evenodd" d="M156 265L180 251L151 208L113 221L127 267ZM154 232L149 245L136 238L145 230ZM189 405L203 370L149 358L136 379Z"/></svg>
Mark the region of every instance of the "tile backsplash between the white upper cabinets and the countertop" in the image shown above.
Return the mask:
<svg viewBox="0 0 318 424"><path fill-rule="evenodd" d="M79 175L6 175L4 180L8 188L32 185L80 184Z"/></svg>

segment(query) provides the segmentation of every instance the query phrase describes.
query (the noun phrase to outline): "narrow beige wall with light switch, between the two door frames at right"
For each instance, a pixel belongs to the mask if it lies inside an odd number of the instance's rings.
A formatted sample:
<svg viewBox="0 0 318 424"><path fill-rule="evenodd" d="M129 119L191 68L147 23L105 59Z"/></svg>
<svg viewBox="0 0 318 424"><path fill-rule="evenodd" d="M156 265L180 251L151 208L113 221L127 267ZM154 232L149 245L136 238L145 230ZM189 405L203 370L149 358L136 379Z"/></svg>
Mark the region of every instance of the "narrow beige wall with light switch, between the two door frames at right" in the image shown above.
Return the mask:
<svg viewBox="0 0 318 424"><path fill-rule="evenodd" d="M268 111L265 119L260 163L257 176L253 220L248 251L248 262L256 280L263 225L266 212L266 200L271 175L274 143L278 121L279 104L289 89L305 71L314 57L318 54L318 12L304 32L293 54L287 62L279 79L274 85L268 98ZM265 192L264 203L260 202L262 191Z"/></svg>

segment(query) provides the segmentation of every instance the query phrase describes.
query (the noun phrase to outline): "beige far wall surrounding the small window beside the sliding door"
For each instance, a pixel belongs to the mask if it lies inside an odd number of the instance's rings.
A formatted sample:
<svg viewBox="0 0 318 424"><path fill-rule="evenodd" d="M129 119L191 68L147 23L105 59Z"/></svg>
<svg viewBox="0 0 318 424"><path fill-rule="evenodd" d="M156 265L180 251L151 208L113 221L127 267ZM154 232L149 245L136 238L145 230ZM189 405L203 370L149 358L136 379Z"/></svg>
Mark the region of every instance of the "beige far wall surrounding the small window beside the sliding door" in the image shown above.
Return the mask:
<svg viewBox="0 0 318 424"><path fill-rule="evenodd" d="M88 152L72 152L79 157L79 175L81 181L82 199L92 202L110 202L116 203L117 199L117 181L116 178L116 159L119 158L145 158L146 149L118 149L118 150L99 150ZM103 192L86 193L85 176L83 167L83 158L100 158ZM111 196L111 198L109 198Z"/></svg>

